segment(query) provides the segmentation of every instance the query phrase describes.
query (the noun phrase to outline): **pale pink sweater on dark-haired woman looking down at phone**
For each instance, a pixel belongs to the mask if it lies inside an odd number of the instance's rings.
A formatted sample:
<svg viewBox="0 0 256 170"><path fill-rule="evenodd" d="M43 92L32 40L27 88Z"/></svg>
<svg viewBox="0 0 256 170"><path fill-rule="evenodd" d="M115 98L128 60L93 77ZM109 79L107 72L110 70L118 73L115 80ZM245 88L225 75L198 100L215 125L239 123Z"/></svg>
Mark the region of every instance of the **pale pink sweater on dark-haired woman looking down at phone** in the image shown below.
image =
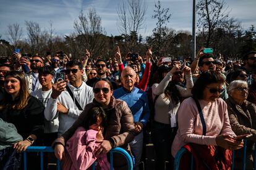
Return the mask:
<svg viewBox="0 0 256 170"><path fill-rule="evenodd" d="M177 111L179 129L171 148L173 156L187 143L216 145L215 138L220 134L236 136L229 124L227 105L223 99L214 102L199 100L199 103L205 119L206 136L202 135L203 127L194 99L184 100Z"/></svg>

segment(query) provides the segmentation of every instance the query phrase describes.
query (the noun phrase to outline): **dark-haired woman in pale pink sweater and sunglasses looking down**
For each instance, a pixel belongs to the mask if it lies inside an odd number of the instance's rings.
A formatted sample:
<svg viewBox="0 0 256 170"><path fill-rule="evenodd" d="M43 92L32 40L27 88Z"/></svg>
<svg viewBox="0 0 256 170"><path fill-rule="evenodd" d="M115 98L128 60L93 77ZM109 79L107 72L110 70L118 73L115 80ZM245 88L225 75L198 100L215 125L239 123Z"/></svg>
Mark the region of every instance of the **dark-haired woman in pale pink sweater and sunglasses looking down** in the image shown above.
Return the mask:
<svg viewBox="0 0 256 170"><path fill-rule="evenodd" d="M227 105L220 98L223 84L223 76L213 70L204 71L197 79L193 97L185 99L177 111L179 129L172 146L173 156L185 147L202 169L207 169L205 164L210 169L231 168L232 150L242 148L243 144L234 139ZM189 164L182 164L186 165Z"/></svg>

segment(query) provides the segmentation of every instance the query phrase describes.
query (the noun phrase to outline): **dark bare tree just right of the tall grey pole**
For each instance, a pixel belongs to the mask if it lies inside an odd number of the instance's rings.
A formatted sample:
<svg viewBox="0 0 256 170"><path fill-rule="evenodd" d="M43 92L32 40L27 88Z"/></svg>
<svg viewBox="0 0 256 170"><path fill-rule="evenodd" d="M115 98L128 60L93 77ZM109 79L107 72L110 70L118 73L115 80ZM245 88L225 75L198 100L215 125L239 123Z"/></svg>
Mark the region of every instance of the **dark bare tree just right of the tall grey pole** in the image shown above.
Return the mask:
<svg viewBox="0 0 256 170"><path fill-rule="evenodd" d="M199 29L207 28L206 46L210 46L212 34L229 17L224 0L200 0L197 4Z"/></svg>

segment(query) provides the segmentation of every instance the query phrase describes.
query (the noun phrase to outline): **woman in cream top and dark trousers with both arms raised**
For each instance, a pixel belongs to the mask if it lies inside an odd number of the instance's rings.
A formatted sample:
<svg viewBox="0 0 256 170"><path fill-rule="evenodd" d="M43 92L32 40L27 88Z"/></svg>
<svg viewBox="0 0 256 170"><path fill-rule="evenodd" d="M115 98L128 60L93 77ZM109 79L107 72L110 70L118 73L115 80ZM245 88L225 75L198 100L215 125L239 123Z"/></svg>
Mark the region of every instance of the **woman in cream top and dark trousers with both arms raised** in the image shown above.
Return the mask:
<svg viewBox="0 0 256 170"><path fill-rule="evenodd" d="M169 67L161 66L158 68L160 83L155 83L152 86L155 115L151 115L153 116L151 135L156 152L156 169L164 169L165 161L169 161L171 164L173 160L171 144L177 132L177 109L182 97L191 95L194 85L189 67L184 67L186 87L177 85L177 83L181 83L183 72L180 68L181 66L178 64L174 65L171 70Z"/></svg>

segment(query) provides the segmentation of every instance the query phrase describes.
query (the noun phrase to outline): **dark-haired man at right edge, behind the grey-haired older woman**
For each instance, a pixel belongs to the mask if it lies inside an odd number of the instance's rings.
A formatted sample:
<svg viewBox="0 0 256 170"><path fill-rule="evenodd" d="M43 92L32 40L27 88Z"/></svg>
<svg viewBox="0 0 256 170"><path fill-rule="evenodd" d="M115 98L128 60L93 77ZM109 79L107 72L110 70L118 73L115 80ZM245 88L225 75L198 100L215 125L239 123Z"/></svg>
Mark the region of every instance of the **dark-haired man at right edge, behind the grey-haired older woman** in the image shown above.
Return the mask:
<svg viewBox="0 0 256 170"><path fill-rule="evenodd" d="M242 59L244 60L245 65L241 67L241 69L246 71L248 75L247 83L250 85L254 82L254 79L252 78L252 70L256 67L256 51L248 52Z"/></svg>

